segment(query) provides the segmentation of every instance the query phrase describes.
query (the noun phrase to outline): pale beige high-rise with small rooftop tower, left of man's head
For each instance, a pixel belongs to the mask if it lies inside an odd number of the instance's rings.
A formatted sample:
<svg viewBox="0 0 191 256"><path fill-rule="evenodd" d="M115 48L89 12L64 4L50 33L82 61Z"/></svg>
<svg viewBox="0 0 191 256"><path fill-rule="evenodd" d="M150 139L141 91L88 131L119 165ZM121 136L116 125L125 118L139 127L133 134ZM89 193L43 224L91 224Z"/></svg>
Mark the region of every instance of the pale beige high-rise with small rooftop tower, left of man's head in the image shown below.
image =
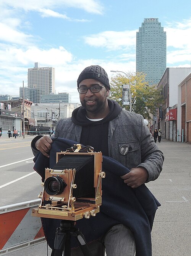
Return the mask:
<svg viewBox="0 0 191 256"><path fill-rule="evenodd" d="M28 68L28 87L37 89L37 103L40 103L40 95L50 94L55 90L55 68Z"/></svg>

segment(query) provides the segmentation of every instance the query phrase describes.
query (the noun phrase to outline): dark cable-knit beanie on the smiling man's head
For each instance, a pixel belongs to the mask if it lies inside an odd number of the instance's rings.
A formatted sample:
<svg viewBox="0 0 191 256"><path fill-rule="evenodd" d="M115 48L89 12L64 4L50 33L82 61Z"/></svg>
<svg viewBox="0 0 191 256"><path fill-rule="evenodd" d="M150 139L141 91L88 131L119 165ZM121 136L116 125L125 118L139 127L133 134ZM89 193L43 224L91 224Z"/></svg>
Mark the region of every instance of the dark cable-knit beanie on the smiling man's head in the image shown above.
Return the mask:
<svg viewBox="0 0 191 256"><path fill-rule="evenodd" d="M108 89L110 89L109 79L107 76L107 73L105 70L97 65L92 65L87 68L85 68L81 74L79 75L79 78L77 80L77 85L79 87L79 83L83 81L84 79L95 79L100 82L102 82L105 86L107 86Z"/></svg>

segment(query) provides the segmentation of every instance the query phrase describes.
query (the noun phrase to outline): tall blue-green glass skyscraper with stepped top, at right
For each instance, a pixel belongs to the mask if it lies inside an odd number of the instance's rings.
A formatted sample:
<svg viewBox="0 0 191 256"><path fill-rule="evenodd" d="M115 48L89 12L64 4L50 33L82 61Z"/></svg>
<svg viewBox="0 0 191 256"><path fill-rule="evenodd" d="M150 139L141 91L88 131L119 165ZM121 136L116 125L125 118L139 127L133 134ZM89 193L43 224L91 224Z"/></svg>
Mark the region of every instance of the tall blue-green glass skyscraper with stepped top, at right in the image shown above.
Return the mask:
<svg viewBox="0 0 191 256"><path fill-rule="evenodd" d="M167 59L166 32L158 18L145 18L136 35L136 72L146 74L149 84L157 84Z"/></svg>

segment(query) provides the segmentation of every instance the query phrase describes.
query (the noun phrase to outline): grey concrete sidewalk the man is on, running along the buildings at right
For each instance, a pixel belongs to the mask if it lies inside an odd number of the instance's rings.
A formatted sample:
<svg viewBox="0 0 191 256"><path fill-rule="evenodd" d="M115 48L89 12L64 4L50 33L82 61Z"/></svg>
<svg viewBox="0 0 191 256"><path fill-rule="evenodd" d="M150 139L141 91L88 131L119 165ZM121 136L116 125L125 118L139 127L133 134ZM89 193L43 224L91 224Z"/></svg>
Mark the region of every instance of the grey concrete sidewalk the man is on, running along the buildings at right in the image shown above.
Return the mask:
<svg viewBox="0 0 191 256"><path fill-rule="evenodd" d="M161 203L152 229L152 256L191 256L191 144L162 140L157 145L165 162L159 178L147 183ZM6 255L46 256L46 243Z"/></svg>

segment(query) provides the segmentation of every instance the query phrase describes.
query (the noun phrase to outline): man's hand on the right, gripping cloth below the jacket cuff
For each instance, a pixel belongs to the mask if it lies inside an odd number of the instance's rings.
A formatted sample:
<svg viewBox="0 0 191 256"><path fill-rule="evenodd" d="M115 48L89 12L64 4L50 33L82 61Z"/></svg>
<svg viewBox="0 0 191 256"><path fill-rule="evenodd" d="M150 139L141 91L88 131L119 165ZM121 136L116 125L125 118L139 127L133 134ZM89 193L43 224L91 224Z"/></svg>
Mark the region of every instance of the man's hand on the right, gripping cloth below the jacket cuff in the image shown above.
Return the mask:
<svg viewBox="0 0 191 256"><path fill-rule="evenodd" d="M137 188L146 182L149 177L147 170L144 167L132 168L129 173L121 176L126 183L131 188Z"/></svg>

